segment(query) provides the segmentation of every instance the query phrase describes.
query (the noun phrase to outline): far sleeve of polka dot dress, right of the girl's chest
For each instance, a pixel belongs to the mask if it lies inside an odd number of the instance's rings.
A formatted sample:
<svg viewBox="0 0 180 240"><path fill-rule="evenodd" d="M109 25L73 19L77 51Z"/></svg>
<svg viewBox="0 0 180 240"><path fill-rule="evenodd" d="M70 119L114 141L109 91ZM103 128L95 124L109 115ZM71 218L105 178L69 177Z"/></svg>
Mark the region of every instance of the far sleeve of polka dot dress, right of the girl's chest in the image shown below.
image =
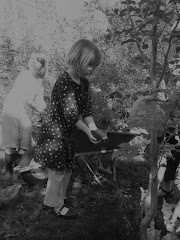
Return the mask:
<svg viewBox="0 0 180 240"><path fill-rule="evenodd" d="M86 86L84 91L84 101L83 101L83 107L81 111L81 115L83 118L92 116L92 100L91 100L89 83L86 82L85 85Z"/></svg>

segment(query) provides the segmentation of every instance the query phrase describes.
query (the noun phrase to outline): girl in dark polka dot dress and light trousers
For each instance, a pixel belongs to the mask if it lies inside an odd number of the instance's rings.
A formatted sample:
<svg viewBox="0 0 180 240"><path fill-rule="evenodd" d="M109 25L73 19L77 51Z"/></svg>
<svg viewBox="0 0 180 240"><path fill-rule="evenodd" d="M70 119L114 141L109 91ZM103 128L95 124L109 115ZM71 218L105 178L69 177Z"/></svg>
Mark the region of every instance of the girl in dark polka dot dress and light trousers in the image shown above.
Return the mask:
<svg viewBox="0 0 180 240"><path fill-rule="evenodd" d="M58 77L53 87L51 104L35 149L35 162L48 169L44 205L53 207L57 215L65 218L77 215L76 209L64 206L73 167L77 128L96 143L91 133L97 127L92 118L88 77L101 60L100 50L87 39L81 39L72 46L67 56L69 68ZM80 120L81 117L86 124Z"/></svg>

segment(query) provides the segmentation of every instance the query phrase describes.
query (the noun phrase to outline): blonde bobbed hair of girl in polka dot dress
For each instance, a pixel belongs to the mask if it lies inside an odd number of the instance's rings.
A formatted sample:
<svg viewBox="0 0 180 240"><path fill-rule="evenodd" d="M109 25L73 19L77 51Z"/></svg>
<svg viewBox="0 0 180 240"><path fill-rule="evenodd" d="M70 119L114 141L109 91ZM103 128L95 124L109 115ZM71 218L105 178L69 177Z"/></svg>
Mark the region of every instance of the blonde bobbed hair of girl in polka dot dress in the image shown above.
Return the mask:
<svg viewBox="0 0 180 240"><path fill-rule="evenodd" d="M77 73L83 74L88 65L97 67L101 64L102 54L93 42L80 39L71 47L66 61Z"/></svg>

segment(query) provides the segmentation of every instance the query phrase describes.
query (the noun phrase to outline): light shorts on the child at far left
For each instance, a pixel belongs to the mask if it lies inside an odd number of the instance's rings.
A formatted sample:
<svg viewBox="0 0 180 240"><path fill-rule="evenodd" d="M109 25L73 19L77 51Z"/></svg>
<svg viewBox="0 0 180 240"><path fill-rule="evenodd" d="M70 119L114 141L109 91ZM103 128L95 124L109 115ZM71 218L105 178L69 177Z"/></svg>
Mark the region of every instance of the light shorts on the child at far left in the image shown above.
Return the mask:
<svg viewBox="0 0 180 240"><path fill-rule="evenodd" d="M2 147L29 149L31 120L26 114L19 117L4 113L2 117Z"/></svg>

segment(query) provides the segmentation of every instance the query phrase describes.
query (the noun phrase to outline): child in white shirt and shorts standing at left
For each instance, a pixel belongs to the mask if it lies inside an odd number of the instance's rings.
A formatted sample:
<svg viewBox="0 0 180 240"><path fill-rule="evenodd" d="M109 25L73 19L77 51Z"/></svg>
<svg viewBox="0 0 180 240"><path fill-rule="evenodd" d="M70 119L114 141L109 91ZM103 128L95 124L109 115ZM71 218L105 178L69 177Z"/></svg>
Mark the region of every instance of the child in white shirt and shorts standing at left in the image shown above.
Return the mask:
<svg viewBox="0 0 180 240"><path fill-rule="evenodd" d="M28 70L18 75L5 99L2 117L2 146L5 147L4 180L11 180L13 164L20 161L31 146L32 110L45 113L43 78L46 65L44 54L32 53Z"/></svg>

